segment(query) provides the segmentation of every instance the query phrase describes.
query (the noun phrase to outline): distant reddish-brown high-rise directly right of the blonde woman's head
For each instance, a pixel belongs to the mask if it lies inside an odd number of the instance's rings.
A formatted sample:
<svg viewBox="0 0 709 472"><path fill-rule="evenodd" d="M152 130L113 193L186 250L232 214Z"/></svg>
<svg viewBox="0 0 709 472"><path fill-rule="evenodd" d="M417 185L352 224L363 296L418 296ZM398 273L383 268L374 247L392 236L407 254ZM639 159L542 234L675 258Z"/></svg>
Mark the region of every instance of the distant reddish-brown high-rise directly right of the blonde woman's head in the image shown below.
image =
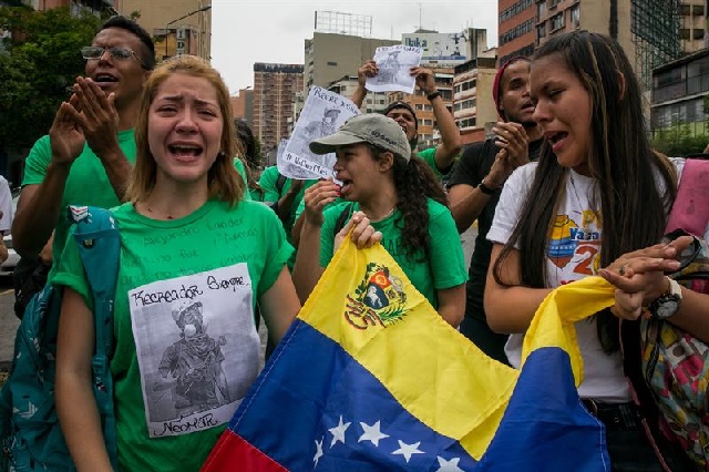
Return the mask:
<svg viewBox="0 0 709 472"><path fill-rule="evenodd" d="M302 64L254 64L251 130L270 153L290 135L296 94L302 91Z"/></svg>

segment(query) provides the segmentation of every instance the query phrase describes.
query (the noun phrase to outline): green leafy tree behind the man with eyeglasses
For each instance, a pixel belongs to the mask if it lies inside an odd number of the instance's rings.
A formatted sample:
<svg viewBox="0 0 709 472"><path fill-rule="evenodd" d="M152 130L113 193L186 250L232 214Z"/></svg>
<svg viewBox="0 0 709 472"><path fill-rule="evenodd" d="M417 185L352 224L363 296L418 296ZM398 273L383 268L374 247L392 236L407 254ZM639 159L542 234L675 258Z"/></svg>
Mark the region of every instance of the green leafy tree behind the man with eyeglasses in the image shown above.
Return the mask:
<svg viewBox="0 0 709 472"><path fill-rule="evenodd" d="M0 147L28 147L47 134L84 71L79 50L91 44L101 21L69 8L0 8L0 30L10 32L0 53Z"/></svg>

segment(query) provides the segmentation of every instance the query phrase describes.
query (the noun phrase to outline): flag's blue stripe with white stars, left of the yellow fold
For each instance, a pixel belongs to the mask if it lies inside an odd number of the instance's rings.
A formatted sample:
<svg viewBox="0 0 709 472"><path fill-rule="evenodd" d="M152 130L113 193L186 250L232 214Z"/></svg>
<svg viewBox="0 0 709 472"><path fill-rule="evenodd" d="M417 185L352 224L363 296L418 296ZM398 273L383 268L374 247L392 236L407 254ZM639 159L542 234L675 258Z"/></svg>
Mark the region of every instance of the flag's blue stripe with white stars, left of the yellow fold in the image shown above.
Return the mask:
<svg viewBox="0 0 709 472"><path fill-rule="evenodd" d="M300 319L229 428L294 471L475 468L458 441L412 417L338 343Z"/></svg>

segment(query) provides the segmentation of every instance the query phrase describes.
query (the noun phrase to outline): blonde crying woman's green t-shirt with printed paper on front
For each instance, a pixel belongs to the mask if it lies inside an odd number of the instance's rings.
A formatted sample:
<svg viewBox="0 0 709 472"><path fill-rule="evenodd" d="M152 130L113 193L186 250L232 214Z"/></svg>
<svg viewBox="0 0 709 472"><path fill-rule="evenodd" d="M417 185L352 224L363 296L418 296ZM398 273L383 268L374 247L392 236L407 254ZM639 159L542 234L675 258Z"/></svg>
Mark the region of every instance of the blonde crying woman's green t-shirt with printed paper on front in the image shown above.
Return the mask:
<svg viewBox="0 0 709 472"><path fill-rule="evenodd" d="M174 220L132 204L121 233L111 359L119 463L132 471L198 471L259 370L254 304L292 248L260 203L210 201ZM76 244L54 279L91 307Z"/></svg>

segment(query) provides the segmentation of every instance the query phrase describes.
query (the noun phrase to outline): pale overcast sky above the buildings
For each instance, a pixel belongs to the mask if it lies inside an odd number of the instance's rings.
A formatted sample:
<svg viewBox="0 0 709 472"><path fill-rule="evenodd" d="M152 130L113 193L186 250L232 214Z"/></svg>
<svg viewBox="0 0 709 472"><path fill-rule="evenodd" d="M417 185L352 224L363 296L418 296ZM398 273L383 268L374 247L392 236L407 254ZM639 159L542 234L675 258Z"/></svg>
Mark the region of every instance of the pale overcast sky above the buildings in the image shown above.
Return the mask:
<svg viewBox="0 0 709 472"><path fill-rule="evenodd" d="M371 16L372 37L379 39L401 40L421 22L441 33L487 29L487 45L497 44L496 0L212 0L212 63L232 94L254 84L254 62L302 64L316 10Z"/></svg>

